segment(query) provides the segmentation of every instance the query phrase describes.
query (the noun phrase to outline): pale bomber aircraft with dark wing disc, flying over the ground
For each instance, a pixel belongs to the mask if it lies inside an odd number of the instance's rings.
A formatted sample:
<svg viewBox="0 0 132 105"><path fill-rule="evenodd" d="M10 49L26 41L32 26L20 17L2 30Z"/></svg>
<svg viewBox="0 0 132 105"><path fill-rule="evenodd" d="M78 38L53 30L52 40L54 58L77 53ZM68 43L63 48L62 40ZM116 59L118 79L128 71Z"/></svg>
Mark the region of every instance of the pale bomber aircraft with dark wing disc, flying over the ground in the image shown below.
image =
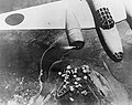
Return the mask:
<svg viewBox="0 0 132 105"><path fill-rule="evenodd" d="M123 1L123 0L122 0ZM96 29L100 42L114 61L123 57L116 23L132 17L131 0L62 0L0 14L0 30L65 29L70 49L85 45L81 30Z"/></svg>

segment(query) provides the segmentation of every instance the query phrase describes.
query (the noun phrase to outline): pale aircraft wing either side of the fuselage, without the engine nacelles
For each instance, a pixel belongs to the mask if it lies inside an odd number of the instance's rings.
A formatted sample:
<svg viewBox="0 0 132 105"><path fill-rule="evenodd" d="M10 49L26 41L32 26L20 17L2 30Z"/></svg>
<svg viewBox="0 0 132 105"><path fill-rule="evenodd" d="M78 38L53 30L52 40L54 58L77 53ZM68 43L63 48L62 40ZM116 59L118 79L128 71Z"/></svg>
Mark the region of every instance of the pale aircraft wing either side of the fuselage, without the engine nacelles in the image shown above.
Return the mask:
<svg viewBox="0 0 132 105"><path fill-rule="evenodd" d="M116 22L127 19L118 0L109 0L109 10ZM0 14L0 30L65 29L66 9L70 9L81 29L95 28L92 13L86 0L62 0Z"/></svg>

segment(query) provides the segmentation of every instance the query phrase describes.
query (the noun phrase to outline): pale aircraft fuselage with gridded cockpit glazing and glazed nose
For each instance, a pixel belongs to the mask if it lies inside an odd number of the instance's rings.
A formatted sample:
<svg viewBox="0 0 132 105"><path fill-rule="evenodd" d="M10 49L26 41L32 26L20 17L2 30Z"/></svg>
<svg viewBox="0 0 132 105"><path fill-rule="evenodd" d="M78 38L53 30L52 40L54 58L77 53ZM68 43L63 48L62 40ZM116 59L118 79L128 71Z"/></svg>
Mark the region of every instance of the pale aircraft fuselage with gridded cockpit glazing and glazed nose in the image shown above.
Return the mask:
<svg viewBox="0 0 132 105"><path fill-rule="evenodd" d="M88 3L103 49L114 62L120 62L123 59L121 38L107 0L91 0Z"/></svg>

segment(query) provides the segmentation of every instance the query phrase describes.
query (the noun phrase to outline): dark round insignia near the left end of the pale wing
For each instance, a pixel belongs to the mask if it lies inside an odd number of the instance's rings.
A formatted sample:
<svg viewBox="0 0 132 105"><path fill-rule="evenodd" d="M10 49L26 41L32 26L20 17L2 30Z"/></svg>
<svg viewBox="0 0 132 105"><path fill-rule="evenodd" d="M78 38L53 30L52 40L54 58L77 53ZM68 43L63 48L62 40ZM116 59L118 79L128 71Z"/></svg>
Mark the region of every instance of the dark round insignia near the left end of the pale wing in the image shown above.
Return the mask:
<svg viewBox="0 0 132 105"><path fill-rule="evenodd" d="M24 20L24 15L21 13L13 13L6 18L6 23L9 25L18 25Z"/></svg>

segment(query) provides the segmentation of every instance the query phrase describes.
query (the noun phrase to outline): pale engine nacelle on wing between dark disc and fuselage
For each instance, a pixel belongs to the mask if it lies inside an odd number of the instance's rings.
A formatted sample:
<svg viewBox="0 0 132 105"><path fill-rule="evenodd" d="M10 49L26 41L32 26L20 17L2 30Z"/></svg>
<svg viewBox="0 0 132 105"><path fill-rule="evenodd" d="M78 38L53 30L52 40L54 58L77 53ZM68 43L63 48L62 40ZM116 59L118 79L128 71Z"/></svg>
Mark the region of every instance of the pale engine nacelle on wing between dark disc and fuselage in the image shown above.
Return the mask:
<svg viewBox="0 0 132 105"><path fill-rule="evenodd" d="M79 22L72 10L66 11L66 34L69 46L79 50L85 45Z"/></svg>

